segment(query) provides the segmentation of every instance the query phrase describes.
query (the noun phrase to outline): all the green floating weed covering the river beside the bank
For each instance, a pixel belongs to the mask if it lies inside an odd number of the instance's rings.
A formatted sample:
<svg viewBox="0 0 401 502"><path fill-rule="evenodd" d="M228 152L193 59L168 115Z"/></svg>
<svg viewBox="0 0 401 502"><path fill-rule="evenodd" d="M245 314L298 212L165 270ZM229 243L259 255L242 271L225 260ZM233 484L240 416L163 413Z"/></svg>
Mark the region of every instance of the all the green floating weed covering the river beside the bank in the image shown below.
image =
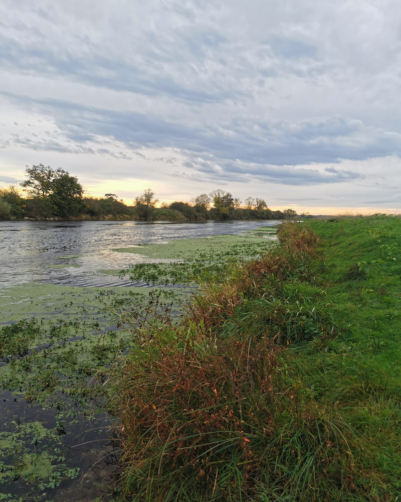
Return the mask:
<svg viewBox="0 0 401 502"><path fill-rule="evenodd" d="M256 256L269 245L252 235L186 240L191 243L149 246L149 260L180 247L185 259L179 253L179 262L169 256L165 263L127 271L96 271L128 273L139 287L26 284L0 291L0 500L46 502L58 499L58 490L82 491L90 465L106 465L114 455L113 417L105 411L109 397L103 384L116 358L137 343L121 318L140 323L144 312L168 311L178 319L201 281L222 277L232 260ZM135 250L141 253L143 247ZM102 475L111 471L107 465L101 470ZM101 491L95 487L90 493L94 500Z"/></svg>

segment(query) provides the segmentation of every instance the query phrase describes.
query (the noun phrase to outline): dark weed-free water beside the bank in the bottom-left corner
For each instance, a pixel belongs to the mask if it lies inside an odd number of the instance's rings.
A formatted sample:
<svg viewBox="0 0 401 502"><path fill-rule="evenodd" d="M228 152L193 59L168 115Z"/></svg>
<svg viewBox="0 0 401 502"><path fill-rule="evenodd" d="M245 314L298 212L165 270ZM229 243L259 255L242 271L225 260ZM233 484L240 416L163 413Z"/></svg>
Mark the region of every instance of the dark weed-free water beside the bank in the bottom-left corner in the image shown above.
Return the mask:
<svg viewBox="0 0 401 502"><path fill-rule="evenodd" d="M2 423L0 431L2 432L8 429L15 432L12 418L15 418L19 424L37 421L47 428L52 428L56 422L55 407L42 409L41 406L31 405L22 396L9 391L0 393L0 403L2 405L0 406ZM65 422L68 434L63 436L62 453L67 463L79 466L79 476L75 479L63 480L53 489L33 489L32 483L26 483L22 478L10 479L0 484L0 495L12 493L16 500L22 497L27 502L34 498L35 502L37 500L40 502L94 502L98 497L102 499L102 502L109 500L107 490L115 479L114 473L118 458L116 444L112 441L113 420L106 412L98 413L96 417L88 420L82 416L82 409L77 408L77 411L78 424ZM41 442L47 443L48 441L44 438ZM49 443L47 447L48 451L53 453L54 445ZM34 452L36 447L32 446L31 450ZM10 459L0 460L7 463ZM29 484L30 486L26 486ZM10 502L13 502L13 499Z"/></svg>

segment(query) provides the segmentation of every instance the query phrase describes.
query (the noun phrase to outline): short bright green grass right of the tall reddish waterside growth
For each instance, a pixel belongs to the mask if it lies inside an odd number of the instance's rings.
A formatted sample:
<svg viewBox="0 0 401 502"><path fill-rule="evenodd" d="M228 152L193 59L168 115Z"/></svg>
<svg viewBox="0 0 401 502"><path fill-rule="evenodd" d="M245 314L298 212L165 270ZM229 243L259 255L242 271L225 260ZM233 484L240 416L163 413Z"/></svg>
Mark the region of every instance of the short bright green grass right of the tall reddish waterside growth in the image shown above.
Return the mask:
<svg viewBox="0 0 401 502"><path fill-rule="evenodd" d="M328 296L348 329L324 347L304 349L296 370L315 399L350 425L360 465L353 482L368 500L395 500L401 495L401 219L309 224L324 238Z"/></svg>

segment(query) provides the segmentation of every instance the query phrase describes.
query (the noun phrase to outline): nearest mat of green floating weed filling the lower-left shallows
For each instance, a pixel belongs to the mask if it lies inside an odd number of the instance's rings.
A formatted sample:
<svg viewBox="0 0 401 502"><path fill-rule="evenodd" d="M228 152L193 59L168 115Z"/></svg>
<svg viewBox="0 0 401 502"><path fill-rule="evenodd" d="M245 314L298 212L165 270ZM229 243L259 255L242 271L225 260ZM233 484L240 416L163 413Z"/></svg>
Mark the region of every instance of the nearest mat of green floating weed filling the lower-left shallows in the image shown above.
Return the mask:
<svg viewBox="0 0 401 502"><path fill-rule="evenodd" d="M171 301L171 294L165 288L160 298ZM141 309L155 295L147 287L2 290L0 500L62 500L61 493L67 500L74 493L83 501L102 494L115 465L102 383L131 345L118 312Z"/></svg>

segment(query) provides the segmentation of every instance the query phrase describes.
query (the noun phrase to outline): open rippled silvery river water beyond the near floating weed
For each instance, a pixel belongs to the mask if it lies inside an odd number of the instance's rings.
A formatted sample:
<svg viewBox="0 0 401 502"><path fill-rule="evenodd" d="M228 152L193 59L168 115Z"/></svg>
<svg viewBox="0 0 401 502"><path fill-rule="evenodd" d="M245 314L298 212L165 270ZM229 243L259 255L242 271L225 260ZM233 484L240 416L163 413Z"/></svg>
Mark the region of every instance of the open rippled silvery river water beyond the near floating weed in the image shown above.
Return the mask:
<svg viewBox="0 0 401 502"><path fill-rule="evenodd" d="M130 281L100 275L99 269L123 269L143 261L140 255L110 249L172 239L239 234L278 221L1 221L0 286L50 283L63 286L131 286ZM62 256L77 255L68 260ZM146 259L147 262L151 261Z"/></svg>

